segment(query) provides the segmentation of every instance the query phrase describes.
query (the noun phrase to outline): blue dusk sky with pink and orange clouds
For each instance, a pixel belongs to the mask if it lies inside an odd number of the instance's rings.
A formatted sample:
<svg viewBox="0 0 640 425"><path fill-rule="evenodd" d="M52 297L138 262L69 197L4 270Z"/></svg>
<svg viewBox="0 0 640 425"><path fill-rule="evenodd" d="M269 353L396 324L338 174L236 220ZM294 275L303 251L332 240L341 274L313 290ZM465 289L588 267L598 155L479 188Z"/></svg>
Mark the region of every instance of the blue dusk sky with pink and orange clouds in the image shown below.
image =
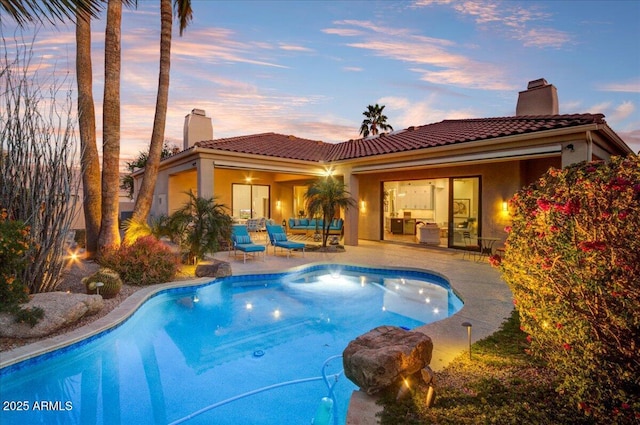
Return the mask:
<svg viewBox="0 0 640 425"><path fill-rule="evenodd" d="M124 160L146 150L158 81L157 1L122 28ZM261 132L357 138L369 104L399 130L452 118L515 115L518 92L545 78L560 113L603 113L640 151L640 1L198 1L174 23L165 138L204 109L214 138ZM93 22L101 133L103 16ZM13 26L12 26L13 25ZM3 19L2 34L15 25ZM40 72L75 74L73 25L36 35ZM32 37L24 31L25 37ZM73 81L73 80L72 80ZM75 85L73 86L75 89Z"/></svg>

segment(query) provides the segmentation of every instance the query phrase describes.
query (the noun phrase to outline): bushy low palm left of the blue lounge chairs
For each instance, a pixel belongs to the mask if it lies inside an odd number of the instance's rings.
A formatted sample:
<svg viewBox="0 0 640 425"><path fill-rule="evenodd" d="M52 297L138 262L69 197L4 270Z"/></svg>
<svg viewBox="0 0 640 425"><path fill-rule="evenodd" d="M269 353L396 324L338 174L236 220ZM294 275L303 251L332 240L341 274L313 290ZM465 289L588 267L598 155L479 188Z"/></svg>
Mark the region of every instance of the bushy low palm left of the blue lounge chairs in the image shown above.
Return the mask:
<svg viewBox="0 0 640 425"><path fill-rule="evenodd" d="M180 244L185 262L197 263L205 254L218 250L220 239L231 236L231 217L228 208L215 198L200 198L186 192L189 199L168 220L172 239Z"/></svg>

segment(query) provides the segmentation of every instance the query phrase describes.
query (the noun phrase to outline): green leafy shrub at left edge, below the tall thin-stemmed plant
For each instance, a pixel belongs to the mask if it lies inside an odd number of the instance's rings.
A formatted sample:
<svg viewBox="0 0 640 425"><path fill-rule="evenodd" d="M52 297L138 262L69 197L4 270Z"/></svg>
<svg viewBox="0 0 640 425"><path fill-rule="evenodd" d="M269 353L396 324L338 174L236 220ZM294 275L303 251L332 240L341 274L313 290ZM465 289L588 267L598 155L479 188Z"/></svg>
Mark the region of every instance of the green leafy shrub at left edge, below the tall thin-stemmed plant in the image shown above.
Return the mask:
<svg viewBox="0 0 640 425"><path fill-rule="evenodd" d="M29 301L29 289L21 276L28 266L31 245L29 227L9 220L7 211L0 210L0 311L33 326L42 318L42 309L20 308L20 304Z"/></svg>

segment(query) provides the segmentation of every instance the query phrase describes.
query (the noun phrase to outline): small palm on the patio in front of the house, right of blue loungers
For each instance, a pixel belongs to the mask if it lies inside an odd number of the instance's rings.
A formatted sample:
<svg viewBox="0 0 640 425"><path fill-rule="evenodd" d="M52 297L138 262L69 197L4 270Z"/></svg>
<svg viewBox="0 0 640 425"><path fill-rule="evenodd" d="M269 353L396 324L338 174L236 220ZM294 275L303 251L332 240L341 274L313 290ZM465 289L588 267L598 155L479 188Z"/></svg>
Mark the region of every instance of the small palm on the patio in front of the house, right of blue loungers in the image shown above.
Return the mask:
<svg viewBox="0 0 640 425"><path fill-rule="evenodd" d="M322 247L327 247L331 220L340 209L348 210L356 206L356 201L346 190L346 185L333 178L321 177L309 185L304 194L307 211L311 215L322 214Z"/></svg>

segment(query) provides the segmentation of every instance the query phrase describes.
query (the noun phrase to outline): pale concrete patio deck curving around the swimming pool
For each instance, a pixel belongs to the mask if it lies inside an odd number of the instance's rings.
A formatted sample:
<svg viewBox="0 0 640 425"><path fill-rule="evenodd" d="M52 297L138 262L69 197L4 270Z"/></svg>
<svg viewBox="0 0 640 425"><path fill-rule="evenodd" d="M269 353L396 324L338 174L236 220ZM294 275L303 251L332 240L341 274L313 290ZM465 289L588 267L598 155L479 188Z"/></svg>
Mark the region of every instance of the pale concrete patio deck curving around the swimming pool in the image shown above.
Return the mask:
<svg viewBox="0 0 640 425"><path fill-rule="evenodd" d="M284 271L289 268L315 262L355 264L372 267L418 268L445 276L464 301L464 307L454 316L418 328L433 340L431 368L441 370L454 357L468 347L467 330L463 322L472 324L472 342L495 332L511 310L512 296L496 270L485 261L476 263L462 259L462 252L416 245L400 245L383 242L360 241L358 246L347 246L345 252L295 252L289 258L285 253L273 255L268 249L266 260L229 257L227 252L215 255L216 259L231 263L233 274L253 274ZM209 278L181 281L143 288L127 298L108 315L68 334L0 353L0 367L27 359L34 354L52 351L58 347L82 340L90 335L120 323L135 311L151 294L168 287L206 282ZM376 424L379 410L373 399L363 393L354 393L349 407L348 425Z"/></svg>

